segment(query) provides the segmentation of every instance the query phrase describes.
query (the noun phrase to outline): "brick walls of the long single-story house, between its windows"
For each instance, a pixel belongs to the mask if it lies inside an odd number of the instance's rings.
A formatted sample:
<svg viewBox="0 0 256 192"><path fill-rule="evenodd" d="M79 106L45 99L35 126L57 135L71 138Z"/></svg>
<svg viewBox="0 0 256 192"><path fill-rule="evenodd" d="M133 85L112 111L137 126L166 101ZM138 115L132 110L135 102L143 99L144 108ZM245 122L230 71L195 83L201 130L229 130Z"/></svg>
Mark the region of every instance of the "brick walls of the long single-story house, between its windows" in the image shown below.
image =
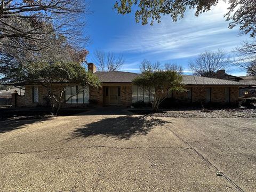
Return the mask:
<svg viewBox="0 0 256 192"><path fill-rule="evenodd" d="M102 86L103 87L103 86ZM96 100L99 106L103 105L103 88L99 89L90 89L90 100ZM118 105L121 106L131 106L132 105L132 85L121 85L120 89L120 102ZM177 100L182 100L186 102L200 102L205 101L205 90L210 86L187 86L186 90L191 90L192 99L189 99L188 93L184 92L173 92L173 98ZM228 87L228 86L226 86ZM36 106L46 106L47 105L47 89L43 86L38 86L39 88L39 102L33 102L33 86L25 86L25 96L19 96L16 98L16 106L27 106L27 107L36 107ZM225 98L225 86L211 86L211 101L216 103L226 103ZM230 102L238 102L238 86L229 86L230 90ZM62 90L62 87L55 85L52 87L52 91L59 95ZM64 101L63 95L63 101ZM49 103L48 103L49 105ZM64 103L62 107L85 107L87 104L71 104Z"/></svg>

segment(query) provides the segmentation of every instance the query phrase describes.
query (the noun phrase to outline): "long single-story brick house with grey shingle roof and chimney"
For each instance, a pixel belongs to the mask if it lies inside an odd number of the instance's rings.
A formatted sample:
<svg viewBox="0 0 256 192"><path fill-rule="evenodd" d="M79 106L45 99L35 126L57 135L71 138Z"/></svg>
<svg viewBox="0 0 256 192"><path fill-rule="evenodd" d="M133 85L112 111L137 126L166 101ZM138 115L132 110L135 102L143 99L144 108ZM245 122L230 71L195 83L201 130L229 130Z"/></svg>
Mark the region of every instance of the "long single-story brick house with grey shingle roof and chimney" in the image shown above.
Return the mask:
<svg viewBox="0 0 256 192"><path fill-rule="evenodd" d="M131 106L137 101L149 102L153 99L153 95L148 95L140 87L132 85L134 78L140 74L110 71L96 71L93 63L88 64L88 70L94 73L102 82L100 89L84 88L83 92L78 93L62 107L87 106L89 101L97 103L100 106ZM191 75L182 75L182 84L186 87L185 92L173 92L167 94L167 97L173 97L177 100L185 102L216 102L216 103L237 103L239 87L248 86L247 83L229 81L226 79L198 77ZM26 94L21 99L22 102L16 106L46 106L47 90L40 84L17 83L16 85L25 86ZM64 83L55 83L53 92L60 92L61 86L66 86L65 98L77 93L81 89L79 85L69 85Z"/></svg>

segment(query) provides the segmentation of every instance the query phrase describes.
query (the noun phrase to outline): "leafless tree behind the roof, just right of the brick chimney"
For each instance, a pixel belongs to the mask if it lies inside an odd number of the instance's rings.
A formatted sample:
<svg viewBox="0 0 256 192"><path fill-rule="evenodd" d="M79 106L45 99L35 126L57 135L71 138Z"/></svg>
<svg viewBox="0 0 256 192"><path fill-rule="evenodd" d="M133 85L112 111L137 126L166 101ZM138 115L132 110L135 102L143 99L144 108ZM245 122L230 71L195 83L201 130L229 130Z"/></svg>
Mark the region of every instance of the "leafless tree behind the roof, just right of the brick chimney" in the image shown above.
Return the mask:
<svg viewBox="0 0 256 192"><path fill-rule="evenodd" d="M104 52L102 50L95 50L93 53L93 60L100 71L116 71L124 64L122 54L118 56L111 52Z"/></svg>

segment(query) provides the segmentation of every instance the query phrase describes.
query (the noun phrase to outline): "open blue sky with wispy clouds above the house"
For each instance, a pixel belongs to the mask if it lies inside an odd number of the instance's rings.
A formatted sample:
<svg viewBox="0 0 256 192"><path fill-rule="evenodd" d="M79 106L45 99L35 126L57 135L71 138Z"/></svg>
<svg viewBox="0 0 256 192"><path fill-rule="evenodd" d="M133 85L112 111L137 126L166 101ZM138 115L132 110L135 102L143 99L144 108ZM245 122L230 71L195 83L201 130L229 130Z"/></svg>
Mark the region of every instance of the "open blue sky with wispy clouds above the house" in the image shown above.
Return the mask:
<svg viewBox="0 0 256 192"><path fill-rule="evenodd" d="M161 23L154 26L142 26L136 23L134 12L127 15L117 14L113 10L115 1L93 0L87 15L85 33L90 36L87 45L90 54L87 61L93 61L93 51L100 49L106 52L123 54L125 64L123 71L139 72L143 59L151 62L177 63L189 74L188 63L204 50L218 49L231 52L243 40L249 38L239 35L238 28L229 29L223 15L228 5L220 2L211 11L194 16L194 10L188 10L185 17L172 22L166 15ZM232 53L230 53L232 54ZM228 70L233 75L245 75L245 71L234 67Z"/></svg>

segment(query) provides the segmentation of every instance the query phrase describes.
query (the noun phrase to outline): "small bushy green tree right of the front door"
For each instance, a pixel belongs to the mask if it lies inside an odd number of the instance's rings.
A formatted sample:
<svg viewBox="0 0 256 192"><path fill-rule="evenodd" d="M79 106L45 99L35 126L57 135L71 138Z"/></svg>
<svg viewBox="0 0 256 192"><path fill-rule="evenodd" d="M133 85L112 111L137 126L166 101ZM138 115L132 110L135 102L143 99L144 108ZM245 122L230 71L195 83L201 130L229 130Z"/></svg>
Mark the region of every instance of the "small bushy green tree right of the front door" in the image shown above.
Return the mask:
<svg viewBox="0 0 256 192"><path fill-rule="evenodd" d="M153 95L154 100L151 101L152 108L154 111L157 111L161 102L166 99L166 93L184 91L181 84L182 76L179 71L175 70L180 69L180 67L171 67L166 70L162 69L159 65L157 70L155 70L154 65L151 65L149 62L146 63L147 67L141 67L142 74L133 80L133 84L142 87L150 95ZM141 66L144 64L145 62L142 62Z"/></svg>

